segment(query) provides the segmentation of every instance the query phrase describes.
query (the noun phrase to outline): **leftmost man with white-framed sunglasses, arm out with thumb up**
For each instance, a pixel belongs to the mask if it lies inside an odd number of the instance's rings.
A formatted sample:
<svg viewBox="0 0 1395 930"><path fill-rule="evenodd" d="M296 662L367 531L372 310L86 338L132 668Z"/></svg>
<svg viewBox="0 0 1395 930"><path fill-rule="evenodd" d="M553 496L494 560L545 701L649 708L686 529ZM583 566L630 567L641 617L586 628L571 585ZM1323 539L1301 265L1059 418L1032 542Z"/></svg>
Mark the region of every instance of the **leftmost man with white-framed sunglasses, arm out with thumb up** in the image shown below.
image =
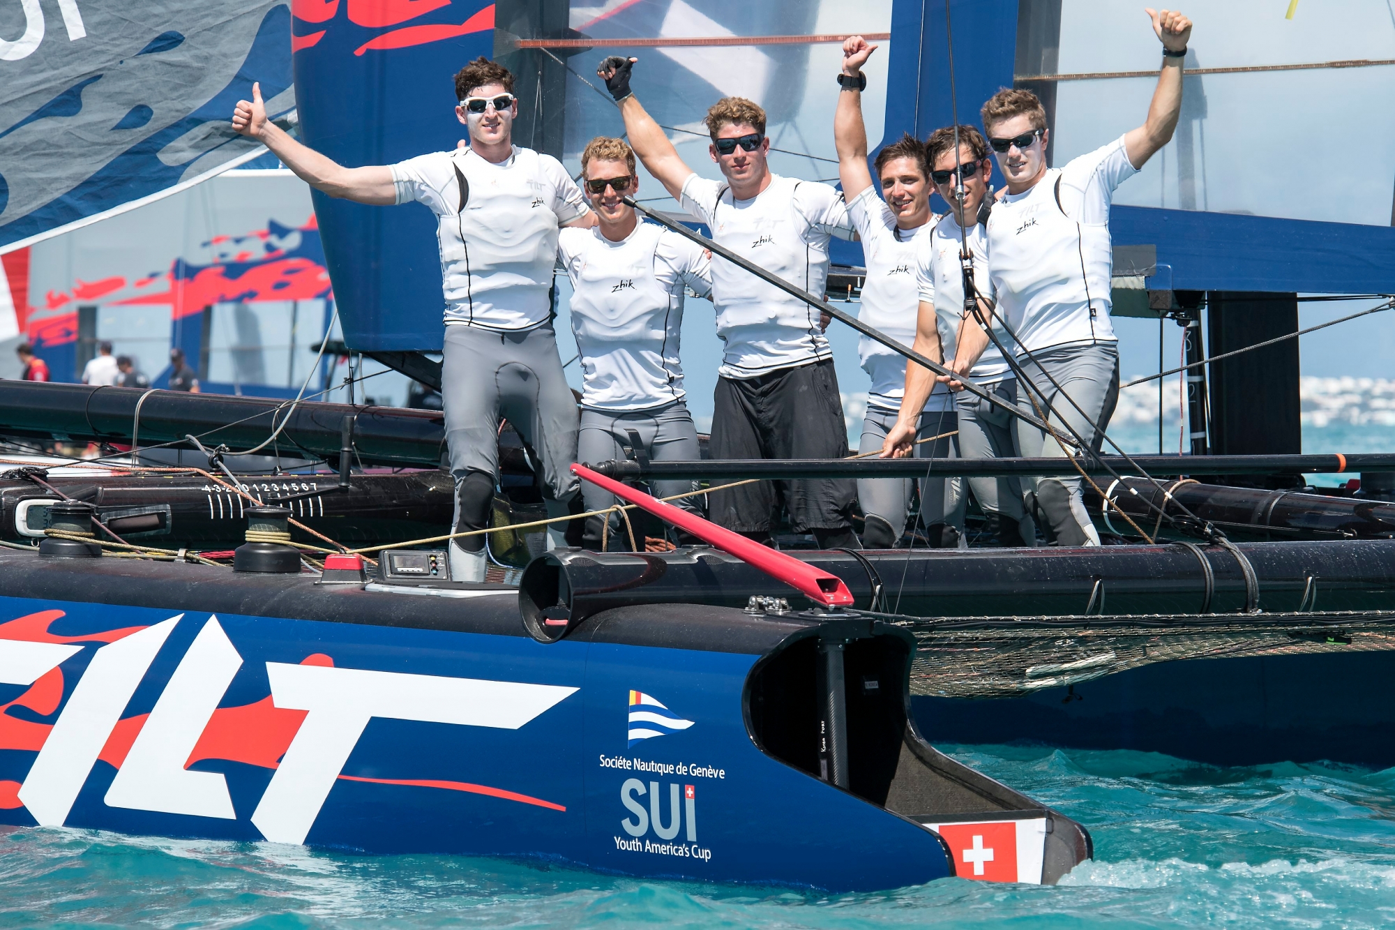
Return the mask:
<svg viewBox="0 0 1395 930"><path fill-rule="evenodd" d="M576 402L552 332L552 267L558 226L590 226L596 216L561 162L512 144L518 98L513 75L483 57L455 75L456 119L469 148L432 152L398 165L343 168L266 121L261 89L240 101L233 128L261 140L301 180L360 204L418 201L437 216L445 288L441 397L455 476L455 529L488 525L505 416L543 469L548 514L566 514L578 490ZM548 529L550 545L562 528ZM484 536L449 547L451 578L483 581Z"/></svg>

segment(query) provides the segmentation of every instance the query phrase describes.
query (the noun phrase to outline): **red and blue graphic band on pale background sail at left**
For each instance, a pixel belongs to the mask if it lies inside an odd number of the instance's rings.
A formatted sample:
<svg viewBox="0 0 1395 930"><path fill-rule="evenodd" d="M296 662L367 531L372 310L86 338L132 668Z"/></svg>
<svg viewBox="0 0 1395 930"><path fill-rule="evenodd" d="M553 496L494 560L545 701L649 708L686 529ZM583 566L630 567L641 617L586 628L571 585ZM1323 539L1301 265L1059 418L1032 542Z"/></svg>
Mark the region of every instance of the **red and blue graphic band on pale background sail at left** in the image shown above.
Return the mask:
<svg viewBox="0 0 1395 930"><path fill-rule="evenodd" d="M78 279L66 290L49 290L43 304L33 307L32 314L25 304L28 318L24 330L35 346L52 348L77 341L75 307L84 303L165 304L170 309L170 318L179 320L215 303L333 296L314 215L299 228L269 221L266 229L241 236L215 236L202 247L212 250L213 261L197 264L176 258L167 271ZM6 267L10 265L10 256L6 256ZM24 289L14 288L14 275L10 279L13 292L27 293L27 276Z"/></svg>

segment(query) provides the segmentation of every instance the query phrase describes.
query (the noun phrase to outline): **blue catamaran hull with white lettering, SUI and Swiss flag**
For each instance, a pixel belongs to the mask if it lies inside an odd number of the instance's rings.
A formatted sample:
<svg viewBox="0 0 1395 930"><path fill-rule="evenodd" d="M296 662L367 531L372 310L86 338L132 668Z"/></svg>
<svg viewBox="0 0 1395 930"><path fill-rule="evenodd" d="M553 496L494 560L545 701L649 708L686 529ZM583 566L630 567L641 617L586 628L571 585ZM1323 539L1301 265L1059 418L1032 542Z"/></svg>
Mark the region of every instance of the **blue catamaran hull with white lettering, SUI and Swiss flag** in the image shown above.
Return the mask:
<svg viewBox="0 0 1395 930"><path fill-rule="evenodd" d="M843 789L817 772L817 624L636 606L541 644L502 586L0 561L39 595L0 596L0 822L831 891L956 874L968 821L1017 846L974 877L1088 855L915 736L894 631L848 645Z"/></svg>

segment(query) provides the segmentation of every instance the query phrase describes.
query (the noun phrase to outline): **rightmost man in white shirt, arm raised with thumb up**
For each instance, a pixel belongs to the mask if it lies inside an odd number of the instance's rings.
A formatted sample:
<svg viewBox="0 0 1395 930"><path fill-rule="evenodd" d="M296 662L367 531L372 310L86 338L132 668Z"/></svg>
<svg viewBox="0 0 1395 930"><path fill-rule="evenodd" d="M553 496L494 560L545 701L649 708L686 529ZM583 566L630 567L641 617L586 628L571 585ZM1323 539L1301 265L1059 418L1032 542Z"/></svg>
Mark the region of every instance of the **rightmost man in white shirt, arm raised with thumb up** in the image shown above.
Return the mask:
<svg viewBox="0 0 1395 930"><path fill-rule="evenodd" d="M1191 35L1191 21L1180 13L1147 13L1162 40L1162 73L1148 120L1109 145L1048 169L1041 101L1011 89L983 105L983 128L1007 179L1007 195L988 221L989 274L1009 331L1004 346L1031 381L1018 385L1017 405L1060 426L1066 438L1069 425L1096 451L1119 399L1119 346L1109 321L1109 204L1115 189L1172 140ZM988 341L985 331L967 328L954 370L970 371ZM1016 429L1025 457L1069 454L1020 419ZM1099 545L1078 478L1034 483L1036 507L1059 545Z"/></svg>

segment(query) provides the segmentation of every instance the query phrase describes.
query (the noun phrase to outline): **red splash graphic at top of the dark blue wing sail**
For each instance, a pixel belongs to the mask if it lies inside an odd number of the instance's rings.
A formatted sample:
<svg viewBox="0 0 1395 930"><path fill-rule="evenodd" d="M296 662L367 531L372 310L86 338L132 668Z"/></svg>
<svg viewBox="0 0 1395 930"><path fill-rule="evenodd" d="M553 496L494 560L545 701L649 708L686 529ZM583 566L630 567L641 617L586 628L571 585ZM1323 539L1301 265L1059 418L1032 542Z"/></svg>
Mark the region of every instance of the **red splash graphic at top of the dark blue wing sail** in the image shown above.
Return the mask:
<svg viewBox="0 0 1395 930"><path fill-rule="evenodd" d="M357 56L374 49L406 49L494 29L494 4L466 15L463 22L458 10L459 6L452 8L451 0L294 0L290 7L294 17L290 50L294 53L318 45L336 24L343 29L357 27L368 36L354 47Z"/></svg>

